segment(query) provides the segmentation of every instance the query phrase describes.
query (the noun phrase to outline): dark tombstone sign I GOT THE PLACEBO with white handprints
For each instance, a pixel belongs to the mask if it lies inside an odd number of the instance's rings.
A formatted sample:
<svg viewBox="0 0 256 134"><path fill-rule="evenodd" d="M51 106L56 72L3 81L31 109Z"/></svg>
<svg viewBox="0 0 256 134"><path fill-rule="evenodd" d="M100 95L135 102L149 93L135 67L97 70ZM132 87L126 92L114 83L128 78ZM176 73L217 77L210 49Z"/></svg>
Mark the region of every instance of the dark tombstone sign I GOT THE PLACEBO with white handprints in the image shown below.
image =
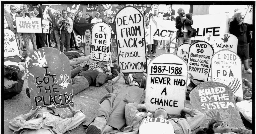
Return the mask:
<svg viewBox="0 0 256 134"><path fill-rule="evenodd" d="M68 57L52 48L40 48L25 60L32 109L74 105Z"/></svg>

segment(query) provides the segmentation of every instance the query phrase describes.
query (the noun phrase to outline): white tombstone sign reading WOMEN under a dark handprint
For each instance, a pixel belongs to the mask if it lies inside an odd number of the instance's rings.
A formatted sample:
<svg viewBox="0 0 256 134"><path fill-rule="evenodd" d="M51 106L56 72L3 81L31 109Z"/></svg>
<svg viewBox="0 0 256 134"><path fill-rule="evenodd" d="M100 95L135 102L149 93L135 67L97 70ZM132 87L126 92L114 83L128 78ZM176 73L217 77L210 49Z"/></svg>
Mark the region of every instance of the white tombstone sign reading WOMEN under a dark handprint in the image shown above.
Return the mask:
<svg viewBox="0 0 256 134"><path fill-rule="evenodd" d="M237 53L237 44L238 44L238 39L236 36L233 34L224 34L222 36L218 36L212 47L214 49L214 52L218 52L223 49L228 49L233 51L234 53Z"/></svg>

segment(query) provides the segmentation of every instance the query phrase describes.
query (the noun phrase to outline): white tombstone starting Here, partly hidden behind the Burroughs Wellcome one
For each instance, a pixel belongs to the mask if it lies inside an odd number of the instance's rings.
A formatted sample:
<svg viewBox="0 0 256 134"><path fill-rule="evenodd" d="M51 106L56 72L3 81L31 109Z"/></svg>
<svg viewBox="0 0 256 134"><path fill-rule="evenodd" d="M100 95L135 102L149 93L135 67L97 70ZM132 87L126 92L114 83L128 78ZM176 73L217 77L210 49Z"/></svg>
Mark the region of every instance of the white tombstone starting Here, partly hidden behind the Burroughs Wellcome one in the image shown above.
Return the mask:
<svg viewBox="0 0 256 134"><path fill-rule="evenodd" d="M180 56L181 58L184 59L184 61L188 62L188 52L189 52L189 47L191 44L189 43L182 43L177 47L177 55Z"/></svg>

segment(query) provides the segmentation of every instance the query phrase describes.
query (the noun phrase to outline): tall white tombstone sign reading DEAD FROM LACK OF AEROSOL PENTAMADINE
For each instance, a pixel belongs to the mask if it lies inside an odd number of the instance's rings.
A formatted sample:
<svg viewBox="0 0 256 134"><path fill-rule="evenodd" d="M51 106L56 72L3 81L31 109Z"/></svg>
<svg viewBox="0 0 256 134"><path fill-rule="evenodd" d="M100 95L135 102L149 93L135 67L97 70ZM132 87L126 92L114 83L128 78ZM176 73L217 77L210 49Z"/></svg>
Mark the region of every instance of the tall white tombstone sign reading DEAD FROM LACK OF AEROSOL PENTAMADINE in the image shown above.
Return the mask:
<svg viewBox="0 0 256 134"><path fill-rule="evenodd" d="M126 6L115 16L119 68L123 73L142 73L147 69L144 18L133 6Z"/></svg>

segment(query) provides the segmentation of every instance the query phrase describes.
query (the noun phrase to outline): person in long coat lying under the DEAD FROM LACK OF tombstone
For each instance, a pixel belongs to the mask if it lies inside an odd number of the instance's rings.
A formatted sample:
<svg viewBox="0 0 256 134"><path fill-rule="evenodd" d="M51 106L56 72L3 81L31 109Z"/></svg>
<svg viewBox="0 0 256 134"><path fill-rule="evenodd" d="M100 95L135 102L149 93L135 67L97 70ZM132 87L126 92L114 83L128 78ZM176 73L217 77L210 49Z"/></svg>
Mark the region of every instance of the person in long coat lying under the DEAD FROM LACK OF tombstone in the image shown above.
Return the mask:
<svg viewBox="0 0 256 134"><path fill-rule="evenodd" d="M102 97L100 107L91 120L83 124L88 127L86 133L101 134L113 129L120 130L126 126L125 105L131 102L144 102L145 90L138 87L138 82L133 81L120 88L114 86L122 76L123 73L120 72L118 76L106 83L105 88L109 93Z"/></svg>

